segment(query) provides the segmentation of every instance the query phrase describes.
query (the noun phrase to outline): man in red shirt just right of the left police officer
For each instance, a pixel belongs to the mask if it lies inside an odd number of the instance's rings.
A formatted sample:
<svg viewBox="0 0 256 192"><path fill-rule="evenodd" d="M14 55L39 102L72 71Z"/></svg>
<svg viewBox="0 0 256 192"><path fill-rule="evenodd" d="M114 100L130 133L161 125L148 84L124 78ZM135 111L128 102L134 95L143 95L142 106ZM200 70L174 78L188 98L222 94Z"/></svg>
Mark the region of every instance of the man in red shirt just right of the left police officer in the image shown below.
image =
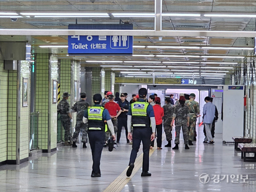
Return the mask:
<svg viewBox="0 0 256 192"><path fill-rule="evenodd" d="M119 105L114 102L113 100L113 97L114 95L112 94L111 91L108 91L107 92L107 97L108 97L108 102L105 103L104 107L105 109L108 110L109 114L110 114L110 117L111 117L111 120L112 120L112 123L113 123L113 126L114 126L114 132L116 133L117 132L117 117L119 116L119 114L122 112L121 111L121 108L119 107ZM108 137L110 135L110 132L109 130L106 131L106 141L108 140Z"/></svg>

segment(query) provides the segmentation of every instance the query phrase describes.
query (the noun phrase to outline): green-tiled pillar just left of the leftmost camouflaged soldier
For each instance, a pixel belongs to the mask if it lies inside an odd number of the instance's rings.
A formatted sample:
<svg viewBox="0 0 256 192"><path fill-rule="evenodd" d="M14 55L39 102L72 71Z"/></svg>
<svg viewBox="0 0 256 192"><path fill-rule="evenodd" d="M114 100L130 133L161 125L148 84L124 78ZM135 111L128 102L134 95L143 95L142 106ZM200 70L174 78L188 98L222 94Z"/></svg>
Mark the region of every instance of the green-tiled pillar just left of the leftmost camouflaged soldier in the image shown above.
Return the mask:
<svg viewBox="0 0 256 192"><path fill-rule="evenodd" d="M50 63L49 63L50 61ZM58 78L57 57L48 53L35 55L36 65L36 111L38 117L38 147L44 152L56 148L57 104L53 103L53 80ZM50 73L49 73L50 67ZM50 76L49 76L50 75ZM49 112L49 116L48 116ZM49 121L49 125L48 125ZM50 137L48 137L50 131ZM48 142L50 148L48 148Z"/></svg>

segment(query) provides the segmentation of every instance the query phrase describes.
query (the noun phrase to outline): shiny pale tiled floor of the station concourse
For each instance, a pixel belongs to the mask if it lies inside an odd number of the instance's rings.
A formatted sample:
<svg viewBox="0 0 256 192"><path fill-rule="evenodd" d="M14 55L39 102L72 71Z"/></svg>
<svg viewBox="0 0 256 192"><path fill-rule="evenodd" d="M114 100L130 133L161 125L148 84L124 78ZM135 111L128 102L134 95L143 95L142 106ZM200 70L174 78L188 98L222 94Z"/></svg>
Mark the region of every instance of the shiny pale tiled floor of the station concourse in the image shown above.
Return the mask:
<svg viewBox="0 0 256 192"><path fill-rule="evenodd" d="M197 132L196 144L188 150L184 149L182 140L179 150L164 147L167 142L163 140L163 149L155 149L150 156L149 172L152 176L141 177L140 168L131 178L123 176L127 181L123 186L122 183L116 182L116 177L125 172L131 150L131 145L126 144L124 137L116 150L109 152L107 148L103 148L101 177L90 177L92 160L89 147L81 148L81 144L78 144L77 148L63 146L56 152L39 154L38 157L20 165L0 166L0 191L95 192L103 191L109 184L118 184L121 188L108 190L111 192L256 191L256 163L243 162L240 152L234 151L232 143L222 144L221 134L215 135L214 144L204 144L201 128ZM141 150L138 156L140 154ZM200 175L205 175L203 173L209 175L205 177L207 183L202 183L204 177L199 179ZM234 183L237 175L237 183ZM240 178L246 178L247 175L248 179Z"/></svg>

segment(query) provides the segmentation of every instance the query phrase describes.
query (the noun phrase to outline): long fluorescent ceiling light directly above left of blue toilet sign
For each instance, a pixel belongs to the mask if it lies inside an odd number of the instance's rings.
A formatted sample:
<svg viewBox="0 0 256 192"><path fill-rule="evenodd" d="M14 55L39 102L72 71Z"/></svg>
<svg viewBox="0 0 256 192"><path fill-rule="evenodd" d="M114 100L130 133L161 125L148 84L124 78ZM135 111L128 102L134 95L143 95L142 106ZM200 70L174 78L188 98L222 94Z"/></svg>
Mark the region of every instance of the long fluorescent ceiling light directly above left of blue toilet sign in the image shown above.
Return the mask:
<svg viewBox="0 0 256 192"><path fill-rule="evenodd" d="M34 17L109 17L108 13L103 12L20 12L20 14Z"/></svg>

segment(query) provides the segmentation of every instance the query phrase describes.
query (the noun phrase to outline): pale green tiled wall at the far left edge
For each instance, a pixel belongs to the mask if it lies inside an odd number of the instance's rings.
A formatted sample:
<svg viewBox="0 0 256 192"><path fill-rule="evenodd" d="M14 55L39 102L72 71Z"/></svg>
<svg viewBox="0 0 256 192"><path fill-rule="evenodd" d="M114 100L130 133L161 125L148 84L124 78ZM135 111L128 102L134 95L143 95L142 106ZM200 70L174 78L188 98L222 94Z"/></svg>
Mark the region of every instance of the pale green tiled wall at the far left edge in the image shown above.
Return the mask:
<svg viewBox="0 0 256 192"><path fill-rule="evenodd" d="M7 86L8 71L3 69L3 60L0 60L0 162L7 160Z"/></svg>

